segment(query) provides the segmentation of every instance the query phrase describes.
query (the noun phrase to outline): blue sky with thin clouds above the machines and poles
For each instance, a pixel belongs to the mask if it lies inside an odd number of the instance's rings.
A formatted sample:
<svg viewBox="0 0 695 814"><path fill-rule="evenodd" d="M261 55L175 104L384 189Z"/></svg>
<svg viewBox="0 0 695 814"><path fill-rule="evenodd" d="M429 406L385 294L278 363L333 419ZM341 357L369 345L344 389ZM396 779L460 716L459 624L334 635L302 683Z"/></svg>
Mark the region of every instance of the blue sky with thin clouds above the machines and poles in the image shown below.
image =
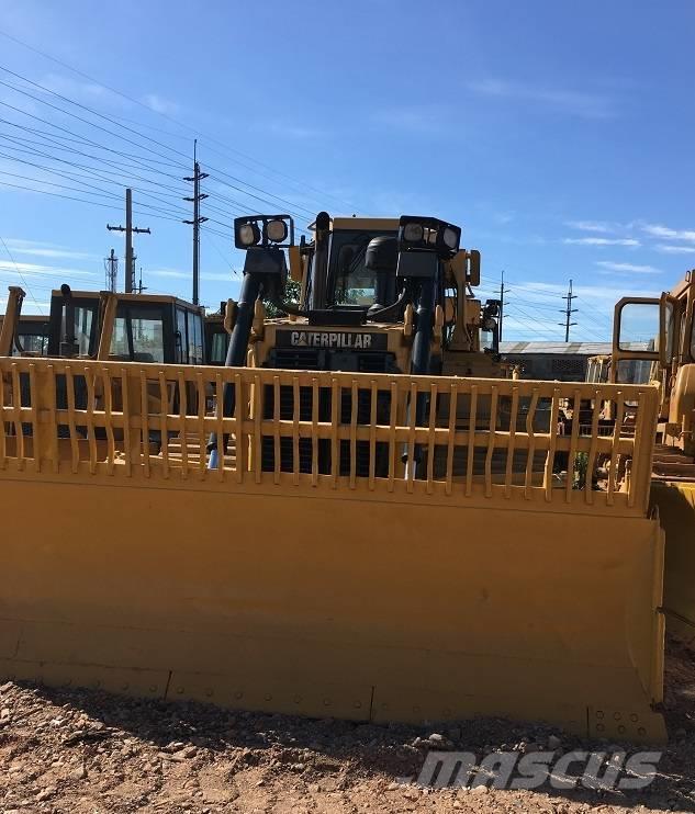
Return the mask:
<svg viewBox="0 0 695 814"><path fill-rule="evenodd" d="M299 226L321 208L460 224L482 252L483 295L505 270L505 339L561 339L570 279L572 337L607 339L619 296L668 290L695 265L690 2L216 0L193 13L178 0L0 0L0 11L2 32L80 71L0 36L0 236L12 256L0 244L0 285L29 287L27 310L45 310L64 281L103 287L103 258L112 246L123 256L105 224L123 222L128 183L136 225L152 228L136 242L145 284L190 296L178 218L195 134L212 307L238 291L239 212L290 208Z"/></svg>

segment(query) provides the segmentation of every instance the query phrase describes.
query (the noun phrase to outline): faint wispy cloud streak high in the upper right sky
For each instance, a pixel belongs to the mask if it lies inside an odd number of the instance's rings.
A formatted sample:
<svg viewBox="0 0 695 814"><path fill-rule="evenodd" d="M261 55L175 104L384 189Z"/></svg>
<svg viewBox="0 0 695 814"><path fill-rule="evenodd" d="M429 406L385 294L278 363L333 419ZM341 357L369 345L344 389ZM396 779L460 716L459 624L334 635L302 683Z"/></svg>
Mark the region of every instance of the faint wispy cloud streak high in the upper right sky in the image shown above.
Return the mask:
<svg viewBox="0 0 695 814"><path fill-rule="evenodd" d="M612 118L616 115L613 100L598 93L542 88L498 79L469 82L468 88L481 95L533 102L558 113L567 113L582 118Z"/></svg>

